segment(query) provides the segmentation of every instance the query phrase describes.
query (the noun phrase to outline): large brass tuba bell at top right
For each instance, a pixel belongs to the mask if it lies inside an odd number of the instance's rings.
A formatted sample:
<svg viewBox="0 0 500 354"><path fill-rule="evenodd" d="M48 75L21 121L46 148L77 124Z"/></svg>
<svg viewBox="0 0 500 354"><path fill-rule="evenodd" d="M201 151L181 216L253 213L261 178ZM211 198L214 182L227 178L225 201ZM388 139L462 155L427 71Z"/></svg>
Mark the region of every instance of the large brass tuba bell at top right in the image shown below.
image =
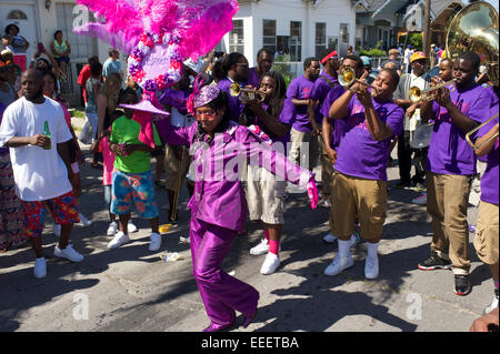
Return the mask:
<svg viewBox="0 0 500 354"><path fill-rule="evenodd" d="M487 67L488 78L499 84L498 12L483 1L460 10L448 28L447 57L454 59L461 51L473 51Z"/></svg>

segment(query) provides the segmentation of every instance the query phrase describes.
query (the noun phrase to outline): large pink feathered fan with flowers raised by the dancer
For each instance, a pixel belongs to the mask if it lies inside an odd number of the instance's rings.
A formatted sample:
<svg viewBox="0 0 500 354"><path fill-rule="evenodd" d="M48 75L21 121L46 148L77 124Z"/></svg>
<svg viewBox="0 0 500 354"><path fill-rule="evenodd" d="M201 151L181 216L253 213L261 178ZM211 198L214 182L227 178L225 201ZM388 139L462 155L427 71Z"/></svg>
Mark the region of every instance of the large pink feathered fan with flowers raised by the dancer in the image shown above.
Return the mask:
<svg viewBox="0 0 500 354"><path fill-rule="evenodd" d="M179 81L187 58L197 59L220 42L232 29L238 1L77 0L77 3L87 6L96 18L104 21L86 23L73 29L76 33L96 36L130 53L129 72L144 90L144 97L142 102L128 108L137 110L134 120L141 124L139 140L154 146L151 119L151 112L157 110L154 91Z"/></svg>

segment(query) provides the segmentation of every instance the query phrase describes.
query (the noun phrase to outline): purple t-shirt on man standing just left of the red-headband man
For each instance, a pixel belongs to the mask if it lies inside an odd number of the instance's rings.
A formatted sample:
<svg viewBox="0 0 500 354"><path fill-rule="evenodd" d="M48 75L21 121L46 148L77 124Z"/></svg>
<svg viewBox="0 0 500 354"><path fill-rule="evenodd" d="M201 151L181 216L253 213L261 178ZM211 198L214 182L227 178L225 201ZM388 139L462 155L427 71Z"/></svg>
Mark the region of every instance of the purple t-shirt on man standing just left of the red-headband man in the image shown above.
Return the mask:
<svg viewBox="0 0 500 354"><path fill-rule="evenodd" d="M306 79L304 75L298 77L290 82L287 90L287 99L284 100L283 110L281 111L280 120L290 122L290 125L304 133L312 132L312 125L309 122L308 107L297 107L291 103L291 100L309 100L314 81Z"/></svg>

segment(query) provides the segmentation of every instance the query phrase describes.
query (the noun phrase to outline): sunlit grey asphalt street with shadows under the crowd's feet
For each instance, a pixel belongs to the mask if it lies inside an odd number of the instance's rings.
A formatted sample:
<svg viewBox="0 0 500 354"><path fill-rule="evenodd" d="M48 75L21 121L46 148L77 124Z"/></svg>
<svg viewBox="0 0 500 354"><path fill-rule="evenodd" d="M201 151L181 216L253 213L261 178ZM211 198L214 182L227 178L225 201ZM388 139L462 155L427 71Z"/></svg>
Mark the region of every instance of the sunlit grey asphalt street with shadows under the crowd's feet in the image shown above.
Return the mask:
<svg viewBox="0 0 500 354"><path fill-rule="evenodd" d="M86 146L88 149L88 146ZM394 149L396 153L396 149ZM90 156L87 159L90 162ZM72 243L84 255L81 263L53 257L57 237L46 225L48 275L33 277L34 254L29 246L0 254L0 331L140 331L199 332L209 324L191 273L187 190L182 189L179 223L163 236L159 252L150 252L149 223L132 214L139 232L131 242L108 250L109 224L103 204L101 171L82 170L80 205L92 220L76 226ZM390 184L398 168L388 169ZM167 194L157 190L161 220L167 220ZM289 194L281 244L281 266L271 275L259 273L264 255L249 254L262 231L247 224L223 262L227 272L260 292L259 312L239 332L462 332L481 316L493 296L489 269L476 255L470 234L472 292L453 293L450 271L422 272L418 262L429 255L431 223L424 205L411 204L419 193L390 188L387 221L379 247L380 276L364 279L366 244L353 250L354 266L337 276L323 275L337 253L326 244L329 210L311 210L306 194ZM469 208L474 222L477 211ZM181 259L166 262L167 252ZM241 316L239 317L241 323Z"/></svg>

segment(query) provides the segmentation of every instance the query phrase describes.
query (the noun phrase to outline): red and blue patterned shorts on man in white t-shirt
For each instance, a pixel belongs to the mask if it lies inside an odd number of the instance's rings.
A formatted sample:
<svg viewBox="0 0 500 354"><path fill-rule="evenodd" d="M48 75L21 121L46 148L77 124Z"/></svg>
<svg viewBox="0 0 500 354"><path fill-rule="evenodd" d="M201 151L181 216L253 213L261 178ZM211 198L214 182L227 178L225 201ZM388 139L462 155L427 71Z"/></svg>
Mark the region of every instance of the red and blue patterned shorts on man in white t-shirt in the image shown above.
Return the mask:
<svg viewBox="0 0 500 354"><path fill-rule="evenodd" d="M24 212L24 235L30 239L41 236L43 232L46 205L59 225L80 222L79 208L73 192L47 201L21 202Z"/></svg>

